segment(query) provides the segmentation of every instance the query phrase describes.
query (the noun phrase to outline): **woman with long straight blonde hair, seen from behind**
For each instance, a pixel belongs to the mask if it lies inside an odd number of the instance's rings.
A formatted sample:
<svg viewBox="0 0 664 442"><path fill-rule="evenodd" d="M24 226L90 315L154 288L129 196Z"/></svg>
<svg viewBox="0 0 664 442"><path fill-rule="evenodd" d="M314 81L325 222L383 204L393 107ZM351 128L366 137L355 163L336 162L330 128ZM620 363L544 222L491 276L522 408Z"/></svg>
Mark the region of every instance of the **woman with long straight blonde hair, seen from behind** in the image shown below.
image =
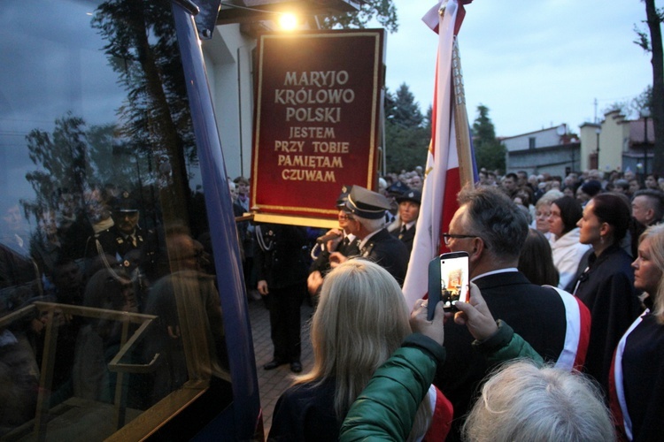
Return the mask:
<svg viewBox="0 0 664 442"><path fill-rule="evenodd" d="M296 377L277 401L268 440L337 440L344 416L374 371L411 333L396 279L381 266L351 259L330 271L313 315L313 369ZM436 404L432 407L432 404ZM443 407L441 407L443 406ZM432 410L447 411L447 415ZM443 440L452 405L431 386L410 439Z"/></svg>

